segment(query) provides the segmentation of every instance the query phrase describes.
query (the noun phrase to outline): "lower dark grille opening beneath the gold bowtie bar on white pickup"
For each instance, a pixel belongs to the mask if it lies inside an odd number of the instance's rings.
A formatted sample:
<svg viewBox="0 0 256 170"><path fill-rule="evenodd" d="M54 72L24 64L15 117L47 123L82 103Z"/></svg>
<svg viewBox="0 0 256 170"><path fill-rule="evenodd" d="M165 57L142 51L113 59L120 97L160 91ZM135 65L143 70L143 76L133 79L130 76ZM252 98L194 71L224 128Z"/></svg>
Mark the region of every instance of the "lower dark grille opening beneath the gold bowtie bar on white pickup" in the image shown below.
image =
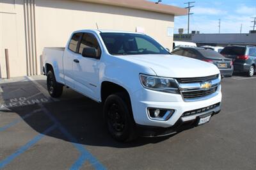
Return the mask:
<svg viewBox="0 0 256 170"><path fill-rule="evenodd" d="M218 89L218 86L209 88L209 89L198 89L195 91L183 91L182 95L183 98L189 99L189 98L197 98L197 97L205 97L207 95L211 95L212 93L215 93Z"/></svg>

